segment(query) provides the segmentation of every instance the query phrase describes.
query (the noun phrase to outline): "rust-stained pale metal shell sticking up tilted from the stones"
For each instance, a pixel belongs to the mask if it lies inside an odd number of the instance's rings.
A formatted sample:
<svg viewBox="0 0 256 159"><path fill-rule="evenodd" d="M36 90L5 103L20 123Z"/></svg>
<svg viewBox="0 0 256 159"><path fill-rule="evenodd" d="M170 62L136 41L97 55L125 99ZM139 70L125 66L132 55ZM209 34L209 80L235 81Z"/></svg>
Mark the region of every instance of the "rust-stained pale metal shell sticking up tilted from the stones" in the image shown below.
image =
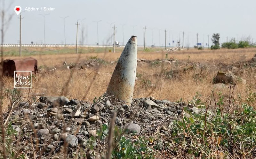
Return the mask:
<svg viewBox="0 0 256 159"><path fill-rule="evenodd" d="M137 36L132 36L116 64L107 94L131 105L137 69Z"/></svg>

